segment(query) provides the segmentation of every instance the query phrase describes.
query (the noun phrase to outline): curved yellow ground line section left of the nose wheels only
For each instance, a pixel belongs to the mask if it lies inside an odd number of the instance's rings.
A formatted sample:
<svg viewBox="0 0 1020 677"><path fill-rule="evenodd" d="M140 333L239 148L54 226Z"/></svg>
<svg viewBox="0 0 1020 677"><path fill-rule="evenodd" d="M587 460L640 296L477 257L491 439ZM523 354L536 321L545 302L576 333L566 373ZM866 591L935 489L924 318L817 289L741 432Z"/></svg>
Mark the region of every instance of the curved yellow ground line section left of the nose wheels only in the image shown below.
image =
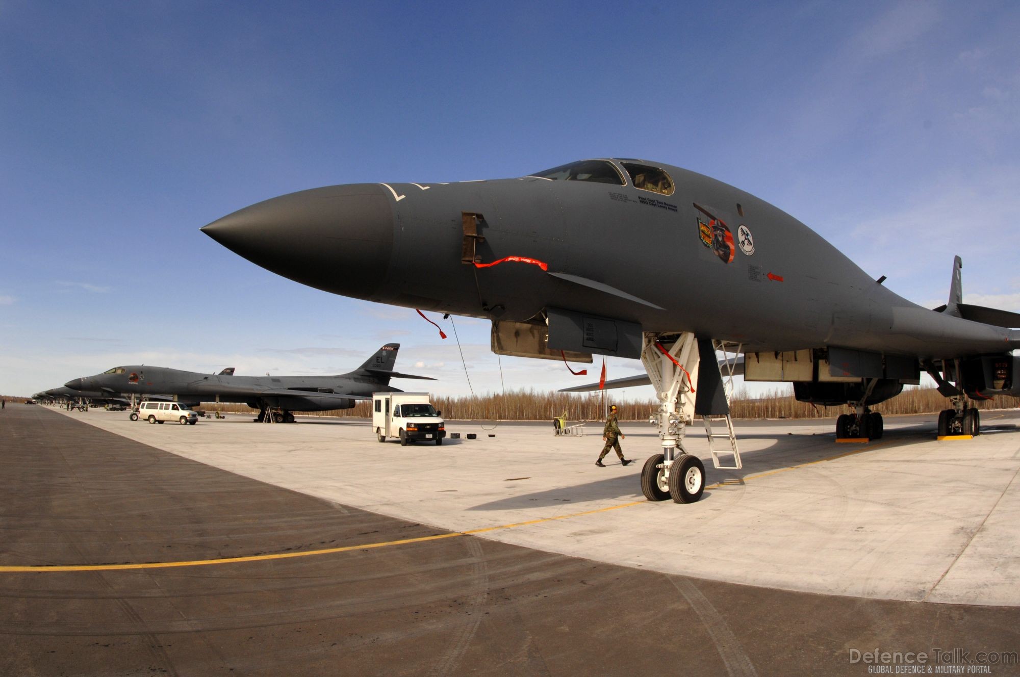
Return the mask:
<svg viewBox="0 0 1020 677"><path fill-rule="evenodd" d="M499 529L513 529L518 526L529 526L531 524L541 524L542 522L552 522L554 520L565 520L571 517L580 517L582 515L593 515L595 513L605 513L610 510L619 510L620 508L628 508L630 506L640 506L642 504L648 503L647 501L634 501L632 503L623 503L617 506L609 506L608 508L598 508L596 510L585 510L580 513L571 513L569 515L557 515L555 517L545 517L537 520L528 520L526 522L515 522L513 524L501 524L499 526L489 526L482 527L480 529L471 529L469 531L453 531L450 533L438 533L431 536L419 536L417 538L402 538L400 540L388 540L386 542L379 543L361 543L359 545L344 545L342 548L326 548L323 550L316 551L301 551L298 553L275 553L273 555L251 555L248 557L224 557L218 560L192 560L184 562L146 562L142 564L82 564L82 565L68 565L68 566L47 566L47 565L37 565L37 566L0 566L0 573L40 573L40 572L51 572L51 571L130 571L133 569L170 569L173 567L206 567L212 566L214 564L239 564L242 562L265 562L267 560L290 560L296 557L312 557L315 555L333 555L335 553L349 553L351 551L358 550L369 550L372 548L389 548L391 545L406 545L408 543L420 543L428 540L440 540L442 538L456 538L457 536L469 536L476 533L486 533L487 531L497 531Z"/></svg>

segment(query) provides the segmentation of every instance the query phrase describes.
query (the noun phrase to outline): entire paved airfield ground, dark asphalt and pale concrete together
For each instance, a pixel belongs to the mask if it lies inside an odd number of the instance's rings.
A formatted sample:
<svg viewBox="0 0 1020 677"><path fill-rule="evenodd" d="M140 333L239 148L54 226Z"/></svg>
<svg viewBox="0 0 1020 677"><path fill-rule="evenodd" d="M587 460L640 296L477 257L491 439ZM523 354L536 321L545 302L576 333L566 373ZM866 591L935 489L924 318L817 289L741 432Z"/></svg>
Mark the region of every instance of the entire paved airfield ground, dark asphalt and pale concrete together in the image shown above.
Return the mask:
<svg viewBox="0 0 1020 677"><path fill-rule="evenodd" d="M596 468L599 437L551 426L401 448L349 421L148 425L8 406L0 674L892 672L852 662L876 647L1020 674L968 663L1020 646L1020 416L989 419L990 434L952 446L923 418L887 419L885 439L853 449L833 449L827 423L748 427L744 470L710 468L722 483L676 506L639 500L640 464ZM639 459L650 446L647 427L624 440ZM797 575L843 563L805 586L854 580L835 594L731 580L742 567L785 580L784 551ZM723 573L662 570L677 559Z"/></svg>

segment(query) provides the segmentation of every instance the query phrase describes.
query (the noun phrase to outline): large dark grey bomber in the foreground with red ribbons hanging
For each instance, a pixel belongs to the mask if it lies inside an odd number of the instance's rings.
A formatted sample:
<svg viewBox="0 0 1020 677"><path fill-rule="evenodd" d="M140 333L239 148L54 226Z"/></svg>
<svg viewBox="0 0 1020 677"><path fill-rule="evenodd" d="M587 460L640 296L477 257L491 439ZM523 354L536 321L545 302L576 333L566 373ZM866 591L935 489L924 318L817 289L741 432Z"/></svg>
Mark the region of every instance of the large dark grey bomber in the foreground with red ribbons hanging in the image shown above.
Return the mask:
<svg viewBox="0 0 1020 677"><path fill-rule="evenodd" d="M202 230L320 290L489 319L499 354L640 358L661 405L661 450L642 473L654 501L704 490L704 467L682 445L696 414L727 416L740 467L717 351L743 354L748 380L850 405L844 438L881 436L870 408L922 372L950 403L939 436L980 432L969 401L1020 395L1020 331L1009 328L1020 315L965 304L959 258L947 304L923 308L782 210L668 164L608 158L519 178L330 186Z"/></svg>

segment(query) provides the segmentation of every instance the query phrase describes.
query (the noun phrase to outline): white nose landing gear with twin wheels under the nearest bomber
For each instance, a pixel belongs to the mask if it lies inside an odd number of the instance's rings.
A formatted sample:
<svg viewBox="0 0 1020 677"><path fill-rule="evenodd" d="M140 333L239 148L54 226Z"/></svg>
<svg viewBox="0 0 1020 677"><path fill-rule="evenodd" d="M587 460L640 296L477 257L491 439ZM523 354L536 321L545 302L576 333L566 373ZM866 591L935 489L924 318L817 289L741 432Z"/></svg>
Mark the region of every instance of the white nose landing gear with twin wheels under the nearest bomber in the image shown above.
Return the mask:
<svg viewBox="0 0 1020 677"><path fill-rule="evenodd" d="M672 499L694 503L705 491L705 466L683 449L686 426L694 422L694 380L698 375L695 335L646 333L642 363L659 396L659 412L653 422L659 427L662 453L650 457L641 473L642 493L649 501ZM693 368L684 369L684 365Z"/></svg>

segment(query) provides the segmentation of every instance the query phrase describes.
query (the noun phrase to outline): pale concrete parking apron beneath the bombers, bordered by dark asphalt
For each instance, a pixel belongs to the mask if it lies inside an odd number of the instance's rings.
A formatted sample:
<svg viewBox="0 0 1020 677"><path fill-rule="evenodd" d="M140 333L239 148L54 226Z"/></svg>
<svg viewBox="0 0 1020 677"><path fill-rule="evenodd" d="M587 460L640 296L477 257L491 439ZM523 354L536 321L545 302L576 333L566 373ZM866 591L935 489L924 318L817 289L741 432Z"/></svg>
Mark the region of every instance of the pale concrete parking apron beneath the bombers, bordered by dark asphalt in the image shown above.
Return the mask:
<svg viewBox="0 0 1020 677"><path fill-rule="evenodd" d="M686 447L705 462L709 486L685 506L641 493L642 464L657 448L647 423L621 425L624 455L638 463L624 468L610 454L598 468L598 424L584 437L557 437L551 423L448 423L461 439L400 447L379 444L357 419L277 425L228 415L182 426L60 411L263 482L443 529L530 522L478 535L542 551L788 590L1020 606L1017 411L985 412L985 434L954 442L894 417L884 438L855 446L835 445L830 421L738 422L738 471L711 467L699 425Z"/></svg>

